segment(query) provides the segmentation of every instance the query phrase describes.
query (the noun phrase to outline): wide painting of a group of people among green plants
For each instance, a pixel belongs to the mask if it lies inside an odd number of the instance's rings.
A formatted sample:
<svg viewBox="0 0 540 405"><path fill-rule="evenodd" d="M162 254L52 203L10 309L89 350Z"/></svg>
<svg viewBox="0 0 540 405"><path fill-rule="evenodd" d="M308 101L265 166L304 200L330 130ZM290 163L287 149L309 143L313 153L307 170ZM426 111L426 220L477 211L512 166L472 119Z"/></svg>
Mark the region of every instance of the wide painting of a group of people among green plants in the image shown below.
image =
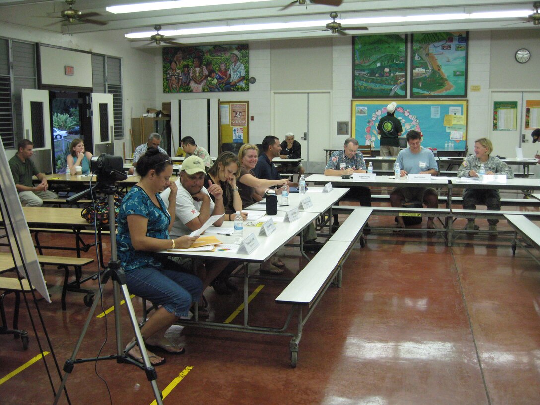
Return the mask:
<svg viewBox="0 0 540 405"><path fill-rule="evenodd" d="M163 48L163 92L248 91L248 45Z"/></svg>

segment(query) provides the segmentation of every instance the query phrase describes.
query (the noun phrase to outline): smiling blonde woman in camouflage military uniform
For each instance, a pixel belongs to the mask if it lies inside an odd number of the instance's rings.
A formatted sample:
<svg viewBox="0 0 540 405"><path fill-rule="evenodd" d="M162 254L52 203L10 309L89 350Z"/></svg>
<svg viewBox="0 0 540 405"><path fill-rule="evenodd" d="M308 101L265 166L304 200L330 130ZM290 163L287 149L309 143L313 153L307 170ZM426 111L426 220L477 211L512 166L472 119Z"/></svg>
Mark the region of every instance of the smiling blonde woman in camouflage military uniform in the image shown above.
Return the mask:
<svg viewBox="0 0 540 405"><path fill-rule="evenodd" d="M484 167L485 174L506 174L507 178L513 179L512 169L501 159L491 156L493 144L487 138L481 138L474 143L474 155L463 160L457 170L457 177L480 177L480 170ZM490 211L501 211L501 194L493 188L465 188L463 191L463 209L476 210L476 205L488 207ZM491 235L497 235L498 219L488 219ZM480 227L475 225L474 219L467 220L468 231L478 231Z"/></svg>

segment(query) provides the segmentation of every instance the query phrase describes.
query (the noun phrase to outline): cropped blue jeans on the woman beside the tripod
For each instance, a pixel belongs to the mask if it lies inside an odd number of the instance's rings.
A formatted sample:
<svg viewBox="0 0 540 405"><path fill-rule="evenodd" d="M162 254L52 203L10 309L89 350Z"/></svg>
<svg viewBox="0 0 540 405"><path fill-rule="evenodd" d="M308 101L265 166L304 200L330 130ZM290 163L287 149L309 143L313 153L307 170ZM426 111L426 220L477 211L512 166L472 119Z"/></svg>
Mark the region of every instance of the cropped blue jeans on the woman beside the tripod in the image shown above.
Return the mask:
<svg viewBox="0 0 540 405"><path fill-rule="evenodd" d="M141 267L126 273L130 294L163 306L175 316L186 316L197 302L203 282L192 274L156 267Z"/></svg>

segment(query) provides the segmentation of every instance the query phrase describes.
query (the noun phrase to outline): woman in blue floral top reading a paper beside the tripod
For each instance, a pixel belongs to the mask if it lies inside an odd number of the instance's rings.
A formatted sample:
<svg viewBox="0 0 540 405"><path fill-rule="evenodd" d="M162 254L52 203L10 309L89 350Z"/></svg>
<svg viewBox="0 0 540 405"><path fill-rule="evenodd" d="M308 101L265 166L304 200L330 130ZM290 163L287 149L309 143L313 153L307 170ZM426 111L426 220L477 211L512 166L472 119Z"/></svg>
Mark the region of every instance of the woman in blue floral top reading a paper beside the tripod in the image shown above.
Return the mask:
<svg viewBox="0 0 540 405"><path fill-rule="evenodd" d="M192 302L199 299L202 283L194 275L168 268L158 255L152 252L174 247L188 247L197 237L183 236L169 239L168 231L174 221L176 184L171 183L172 161L165 153L149 149L140 158L137 171L141 179L125 195L118 214L118 259L126 274L126 286L130 293L159 305L157 311L140 329L149 350L162 350L183 354L184 348L173 345L165 338L165 331L180 317L185 316ZM159 193L170 187L167 211ZM131 343L135 341L132 339ZM130 343L130 345L131 345ZM130 346L128 345L128 346ZM165 363L165 359L148 352L153 366ZM127 356L143 362L138 346Z"/></svg>

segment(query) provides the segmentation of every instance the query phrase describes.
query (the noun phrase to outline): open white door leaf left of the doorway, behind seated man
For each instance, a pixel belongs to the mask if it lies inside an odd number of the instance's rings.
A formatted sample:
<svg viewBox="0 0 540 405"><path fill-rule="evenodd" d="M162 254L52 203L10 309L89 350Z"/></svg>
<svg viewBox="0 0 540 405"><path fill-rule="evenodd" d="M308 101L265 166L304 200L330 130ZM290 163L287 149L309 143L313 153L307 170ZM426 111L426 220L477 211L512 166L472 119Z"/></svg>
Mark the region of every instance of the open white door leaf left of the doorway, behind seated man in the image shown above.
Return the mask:
<svg viewBox="0 0 540 405"><path fill-rule="evenodd" d="M51 114L49 92L46 90L21 90L23 138L33 142L33 160L40 172L52 172Z"/></svg>

